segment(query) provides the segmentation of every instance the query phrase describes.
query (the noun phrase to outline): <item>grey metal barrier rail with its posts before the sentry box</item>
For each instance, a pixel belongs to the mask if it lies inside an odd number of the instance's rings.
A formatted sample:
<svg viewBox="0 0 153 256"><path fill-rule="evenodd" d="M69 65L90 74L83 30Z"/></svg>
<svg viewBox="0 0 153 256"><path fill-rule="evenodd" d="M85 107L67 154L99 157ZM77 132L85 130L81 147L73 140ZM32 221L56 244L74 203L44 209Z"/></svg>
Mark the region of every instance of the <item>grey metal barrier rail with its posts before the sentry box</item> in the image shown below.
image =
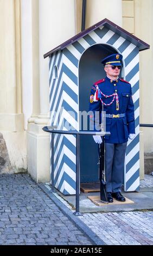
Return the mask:
<svg viewBox="0 0 153 256"><path fill-rule="evenodd" d="M79 194L80 194L80 135L99 135L105 136L110 135L110 132L82 132L82 131L61 131L61 130L53 130L57 128L57 126L44 126L42 128L45 132L52 133L52 157L51 157L51 164L52 164L52 191L55 192L54 189L54 133L60 134L68 134L68 135L75 135L76 136L76 195L75 195L75 212L74 215L79 216L81 215L79 211Z"/></svg>

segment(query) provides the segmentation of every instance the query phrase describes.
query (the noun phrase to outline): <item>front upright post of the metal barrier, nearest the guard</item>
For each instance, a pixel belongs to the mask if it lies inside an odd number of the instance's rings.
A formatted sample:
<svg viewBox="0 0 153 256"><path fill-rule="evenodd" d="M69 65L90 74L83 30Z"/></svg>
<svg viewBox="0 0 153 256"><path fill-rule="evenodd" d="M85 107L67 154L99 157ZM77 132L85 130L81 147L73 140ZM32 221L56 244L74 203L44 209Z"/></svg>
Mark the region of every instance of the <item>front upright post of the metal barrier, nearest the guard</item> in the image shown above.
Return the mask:
<svg viewBox="0 0 153 256"><path fill-rule="evenodd" d="M74 215L80 216L79 212L79 194L80 194L80 135L76 134L76 196Z"/></svg>

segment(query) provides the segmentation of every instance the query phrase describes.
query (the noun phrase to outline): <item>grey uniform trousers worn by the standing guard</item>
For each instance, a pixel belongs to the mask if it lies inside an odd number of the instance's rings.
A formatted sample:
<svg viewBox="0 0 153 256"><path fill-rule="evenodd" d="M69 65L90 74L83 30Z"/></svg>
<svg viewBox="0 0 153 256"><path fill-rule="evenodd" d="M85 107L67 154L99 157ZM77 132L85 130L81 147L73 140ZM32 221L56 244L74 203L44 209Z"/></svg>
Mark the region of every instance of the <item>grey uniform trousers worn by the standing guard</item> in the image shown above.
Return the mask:
<svg viewBox="0 0 153 256"><path fill-rule="evenodd" d="M127 142L105 143L105 179L107 192L120 192L123 184Z"/></svg>

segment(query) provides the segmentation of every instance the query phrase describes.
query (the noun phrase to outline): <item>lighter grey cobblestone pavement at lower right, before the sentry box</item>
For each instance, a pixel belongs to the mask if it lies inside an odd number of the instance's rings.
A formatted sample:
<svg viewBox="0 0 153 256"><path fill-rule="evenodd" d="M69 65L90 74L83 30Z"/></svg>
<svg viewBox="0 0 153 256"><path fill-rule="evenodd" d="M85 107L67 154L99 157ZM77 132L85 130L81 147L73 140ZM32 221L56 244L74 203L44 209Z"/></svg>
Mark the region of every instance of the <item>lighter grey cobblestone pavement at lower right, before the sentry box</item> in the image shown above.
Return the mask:
<svg viewBox="0 0 153 256"><path fill-rule="evenodd" d="M153 245L153 212L110 212L79 217L107 245Z"/></svg>

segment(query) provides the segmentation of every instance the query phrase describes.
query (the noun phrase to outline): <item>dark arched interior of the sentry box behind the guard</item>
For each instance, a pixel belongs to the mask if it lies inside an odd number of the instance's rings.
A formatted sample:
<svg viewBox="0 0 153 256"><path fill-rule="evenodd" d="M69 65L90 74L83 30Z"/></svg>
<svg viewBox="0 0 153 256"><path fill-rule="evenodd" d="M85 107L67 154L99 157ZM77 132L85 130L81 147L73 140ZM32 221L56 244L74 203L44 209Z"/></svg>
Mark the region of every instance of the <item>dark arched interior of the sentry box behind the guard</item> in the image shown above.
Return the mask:
<svg viewBox="0 0 153 256"><path fill-rule="evenodd" d="M113 53L118 53L118 51L110 45L95 44L82 54L79 62L80 112L88 112L91 87L96 81L106 76L101 59ZM123 70L120 74L123 74ZM80 127L80 130L82 130L82 127ZM81 183L99 181L97 147L98 145L94 143L92 136L80 136Z"/></svg>

